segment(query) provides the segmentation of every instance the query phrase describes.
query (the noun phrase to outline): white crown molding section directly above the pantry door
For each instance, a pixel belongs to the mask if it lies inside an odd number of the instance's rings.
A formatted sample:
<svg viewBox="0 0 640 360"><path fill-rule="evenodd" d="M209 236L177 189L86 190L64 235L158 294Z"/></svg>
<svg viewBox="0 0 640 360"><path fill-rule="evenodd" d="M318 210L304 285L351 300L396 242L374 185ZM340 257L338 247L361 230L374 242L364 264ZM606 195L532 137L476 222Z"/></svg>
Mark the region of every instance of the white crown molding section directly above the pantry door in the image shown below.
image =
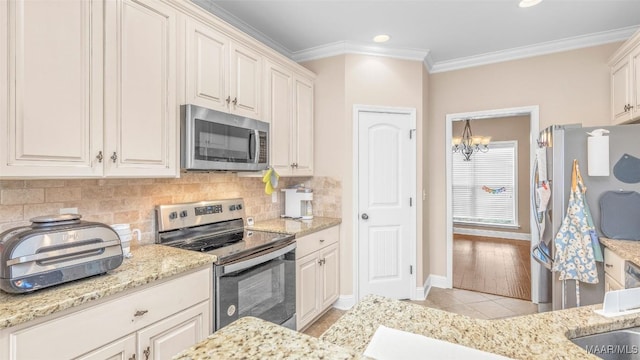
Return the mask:
<svg viewBox="0 0 640 360"><path fill-rule="evenodd" d="M375 55L404 60L423 61L429 54L426 49L400 49L375 46L354 41L337 41L310 49L297 51L291 57L296 62L322 59L344 54Z"/></svg>

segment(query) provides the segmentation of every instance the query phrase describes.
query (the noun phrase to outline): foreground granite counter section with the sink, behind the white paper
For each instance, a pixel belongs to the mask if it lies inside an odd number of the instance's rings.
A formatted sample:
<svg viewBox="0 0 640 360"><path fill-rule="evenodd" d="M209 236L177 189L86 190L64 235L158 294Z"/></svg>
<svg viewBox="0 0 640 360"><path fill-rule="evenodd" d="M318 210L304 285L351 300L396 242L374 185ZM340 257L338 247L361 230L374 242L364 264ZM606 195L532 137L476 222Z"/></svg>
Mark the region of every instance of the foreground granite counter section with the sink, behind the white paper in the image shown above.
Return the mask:
<svg viewBox="0 0 640 360"><path fill-rule="evenodd" d="M639 315L605 318L600 305L478 320L403 301L368 296L321 339L361 353L379 325L488 351L514 359L597 359L568 338L640 325Z"/></svg>

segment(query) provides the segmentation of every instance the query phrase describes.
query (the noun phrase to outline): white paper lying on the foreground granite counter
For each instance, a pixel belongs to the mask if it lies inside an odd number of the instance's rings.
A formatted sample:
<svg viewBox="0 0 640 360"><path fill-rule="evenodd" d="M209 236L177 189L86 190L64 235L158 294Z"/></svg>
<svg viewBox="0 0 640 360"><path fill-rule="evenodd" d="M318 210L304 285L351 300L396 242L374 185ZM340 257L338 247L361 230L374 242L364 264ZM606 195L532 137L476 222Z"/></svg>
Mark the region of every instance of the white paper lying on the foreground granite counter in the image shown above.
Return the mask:
<svg viewBox="0 0 640 360"><path fill-rule="evenodd" d="M376 360L509 359L486 351L380 325L364 351Z"/></svg>

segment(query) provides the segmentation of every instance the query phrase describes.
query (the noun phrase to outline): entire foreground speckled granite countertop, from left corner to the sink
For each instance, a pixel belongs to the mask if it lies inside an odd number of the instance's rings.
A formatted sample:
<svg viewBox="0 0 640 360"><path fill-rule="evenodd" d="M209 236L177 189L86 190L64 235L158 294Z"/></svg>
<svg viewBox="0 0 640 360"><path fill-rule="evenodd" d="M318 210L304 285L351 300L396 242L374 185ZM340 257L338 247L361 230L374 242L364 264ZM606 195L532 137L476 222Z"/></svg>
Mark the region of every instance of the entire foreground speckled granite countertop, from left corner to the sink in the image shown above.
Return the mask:
<svg viewBox="0 0 640 360"><path fill-rule="evenodd" d="M606 318L599 305L479 320L369 295L320 339L255 318L242 318L174 359L366 359L378 326L407 331L514 359L598 359L569 338L640 325L640 316Z"/></svg>

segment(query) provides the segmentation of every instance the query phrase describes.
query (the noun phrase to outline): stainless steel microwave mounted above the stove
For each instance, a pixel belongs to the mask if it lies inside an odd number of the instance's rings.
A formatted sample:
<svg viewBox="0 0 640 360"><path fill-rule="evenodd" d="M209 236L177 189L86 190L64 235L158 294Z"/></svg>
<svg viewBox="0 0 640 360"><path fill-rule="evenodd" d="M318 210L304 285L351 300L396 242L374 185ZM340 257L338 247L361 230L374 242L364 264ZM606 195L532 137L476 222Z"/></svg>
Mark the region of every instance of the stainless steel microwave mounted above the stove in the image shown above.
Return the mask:
<svg viewBox="0 0 640 360"><path fill-rule="evenodd" d="M180 107L184 170L256 171L269 166L269 124L206 109Z"/></svg>

